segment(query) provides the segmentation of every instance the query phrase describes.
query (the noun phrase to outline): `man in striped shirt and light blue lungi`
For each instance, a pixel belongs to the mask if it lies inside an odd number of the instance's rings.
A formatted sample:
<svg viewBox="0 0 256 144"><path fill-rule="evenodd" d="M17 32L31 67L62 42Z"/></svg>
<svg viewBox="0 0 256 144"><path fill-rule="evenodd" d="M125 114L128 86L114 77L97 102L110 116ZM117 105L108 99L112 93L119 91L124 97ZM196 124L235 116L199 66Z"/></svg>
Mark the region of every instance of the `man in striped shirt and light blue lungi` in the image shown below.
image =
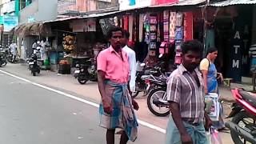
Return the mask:
<svg viewBox="0 0 256 144"><path fill-rule="evenodd" d="M208 143L206 125L211 121L204 112L204 86L198 65L203 46L197 40L182 44L182 64L170 75L167 82L167 100L170 102L170 120L166 129L166 144Z"/></svg>

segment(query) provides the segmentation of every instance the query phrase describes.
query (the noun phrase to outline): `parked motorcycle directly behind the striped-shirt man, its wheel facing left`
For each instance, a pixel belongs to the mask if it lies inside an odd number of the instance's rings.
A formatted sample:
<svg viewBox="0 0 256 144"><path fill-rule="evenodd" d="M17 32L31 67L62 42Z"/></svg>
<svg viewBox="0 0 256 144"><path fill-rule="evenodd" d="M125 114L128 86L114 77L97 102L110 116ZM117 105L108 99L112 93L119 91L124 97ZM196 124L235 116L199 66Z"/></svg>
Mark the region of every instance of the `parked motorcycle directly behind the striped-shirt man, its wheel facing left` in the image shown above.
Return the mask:
<svg viewBox="0 0 256 144"><path fill-rule="evenodd" d="M166 101L167 76L154 77L150 75L143 76L142 78L150 81L151 85L154 85L154 89L150 91L146 101L150 112L159 117L165 117L170 114L169 102Z"/></svg>

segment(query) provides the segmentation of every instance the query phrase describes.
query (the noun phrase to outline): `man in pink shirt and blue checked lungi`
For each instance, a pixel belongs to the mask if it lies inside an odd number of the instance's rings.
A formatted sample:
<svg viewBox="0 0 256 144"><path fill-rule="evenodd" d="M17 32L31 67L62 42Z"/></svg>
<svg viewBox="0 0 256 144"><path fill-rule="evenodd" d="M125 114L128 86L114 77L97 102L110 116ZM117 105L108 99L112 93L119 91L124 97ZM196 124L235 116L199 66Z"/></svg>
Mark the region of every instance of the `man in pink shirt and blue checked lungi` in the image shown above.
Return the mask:
<svg viewBox="0 0 256 144"><path fill-rule="evenodd" d="M120 144L126 144L129 139L134 142L137 138L138 122L134 109L138 110L138 103L127 89L130 67L121 46L123 31L118 27L111 28L107 37L110 47L102 50L97 57L98 89L102 96L99 126L106 128L107 144L114 144L116 128L125 131L121 134Z"/></svg>

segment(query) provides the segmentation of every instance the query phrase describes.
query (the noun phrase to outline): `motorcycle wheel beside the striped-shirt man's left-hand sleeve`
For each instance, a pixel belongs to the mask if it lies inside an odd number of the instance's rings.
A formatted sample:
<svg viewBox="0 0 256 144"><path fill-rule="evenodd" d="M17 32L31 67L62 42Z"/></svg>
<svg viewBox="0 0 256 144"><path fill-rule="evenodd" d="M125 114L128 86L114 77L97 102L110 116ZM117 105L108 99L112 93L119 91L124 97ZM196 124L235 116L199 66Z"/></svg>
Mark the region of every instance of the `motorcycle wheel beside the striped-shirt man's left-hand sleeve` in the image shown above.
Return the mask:
<svg viewBox="0 0 256 144"><path fill-rule="evenodd" d="M147 97L147 106L150 112L158 117L166 117L170 114L170 109L166 108L165 106L159 107L155 106L153 103L154 98L163 98L166 94L165 88L157 88L150 91L149 96ZM163 110L162 110L163 109Z"/></svg>

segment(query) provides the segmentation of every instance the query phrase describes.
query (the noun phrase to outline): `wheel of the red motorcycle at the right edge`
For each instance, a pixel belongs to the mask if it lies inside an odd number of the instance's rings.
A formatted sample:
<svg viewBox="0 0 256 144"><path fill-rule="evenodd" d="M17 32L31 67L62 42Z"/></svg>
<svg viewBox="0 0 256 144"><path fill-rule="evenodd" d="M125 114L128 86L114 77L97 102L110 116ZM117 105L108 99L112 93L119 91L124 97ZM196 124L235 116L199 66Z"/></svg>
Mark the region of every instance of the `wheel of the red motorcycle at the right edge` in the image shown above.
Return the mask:
<svg viewBox="0 0 256 144"><path fill-rule="evenodd" d="M251 114L248 114L246 111L241 111L238 114L236 114L234 118L232 118L232 122L236 123L242 129L248 130L248 125L256 126L256 117ZM250 143L246 142L246 140L239 136L234 130L230 130L230 134L235 144Z"/></svg>

